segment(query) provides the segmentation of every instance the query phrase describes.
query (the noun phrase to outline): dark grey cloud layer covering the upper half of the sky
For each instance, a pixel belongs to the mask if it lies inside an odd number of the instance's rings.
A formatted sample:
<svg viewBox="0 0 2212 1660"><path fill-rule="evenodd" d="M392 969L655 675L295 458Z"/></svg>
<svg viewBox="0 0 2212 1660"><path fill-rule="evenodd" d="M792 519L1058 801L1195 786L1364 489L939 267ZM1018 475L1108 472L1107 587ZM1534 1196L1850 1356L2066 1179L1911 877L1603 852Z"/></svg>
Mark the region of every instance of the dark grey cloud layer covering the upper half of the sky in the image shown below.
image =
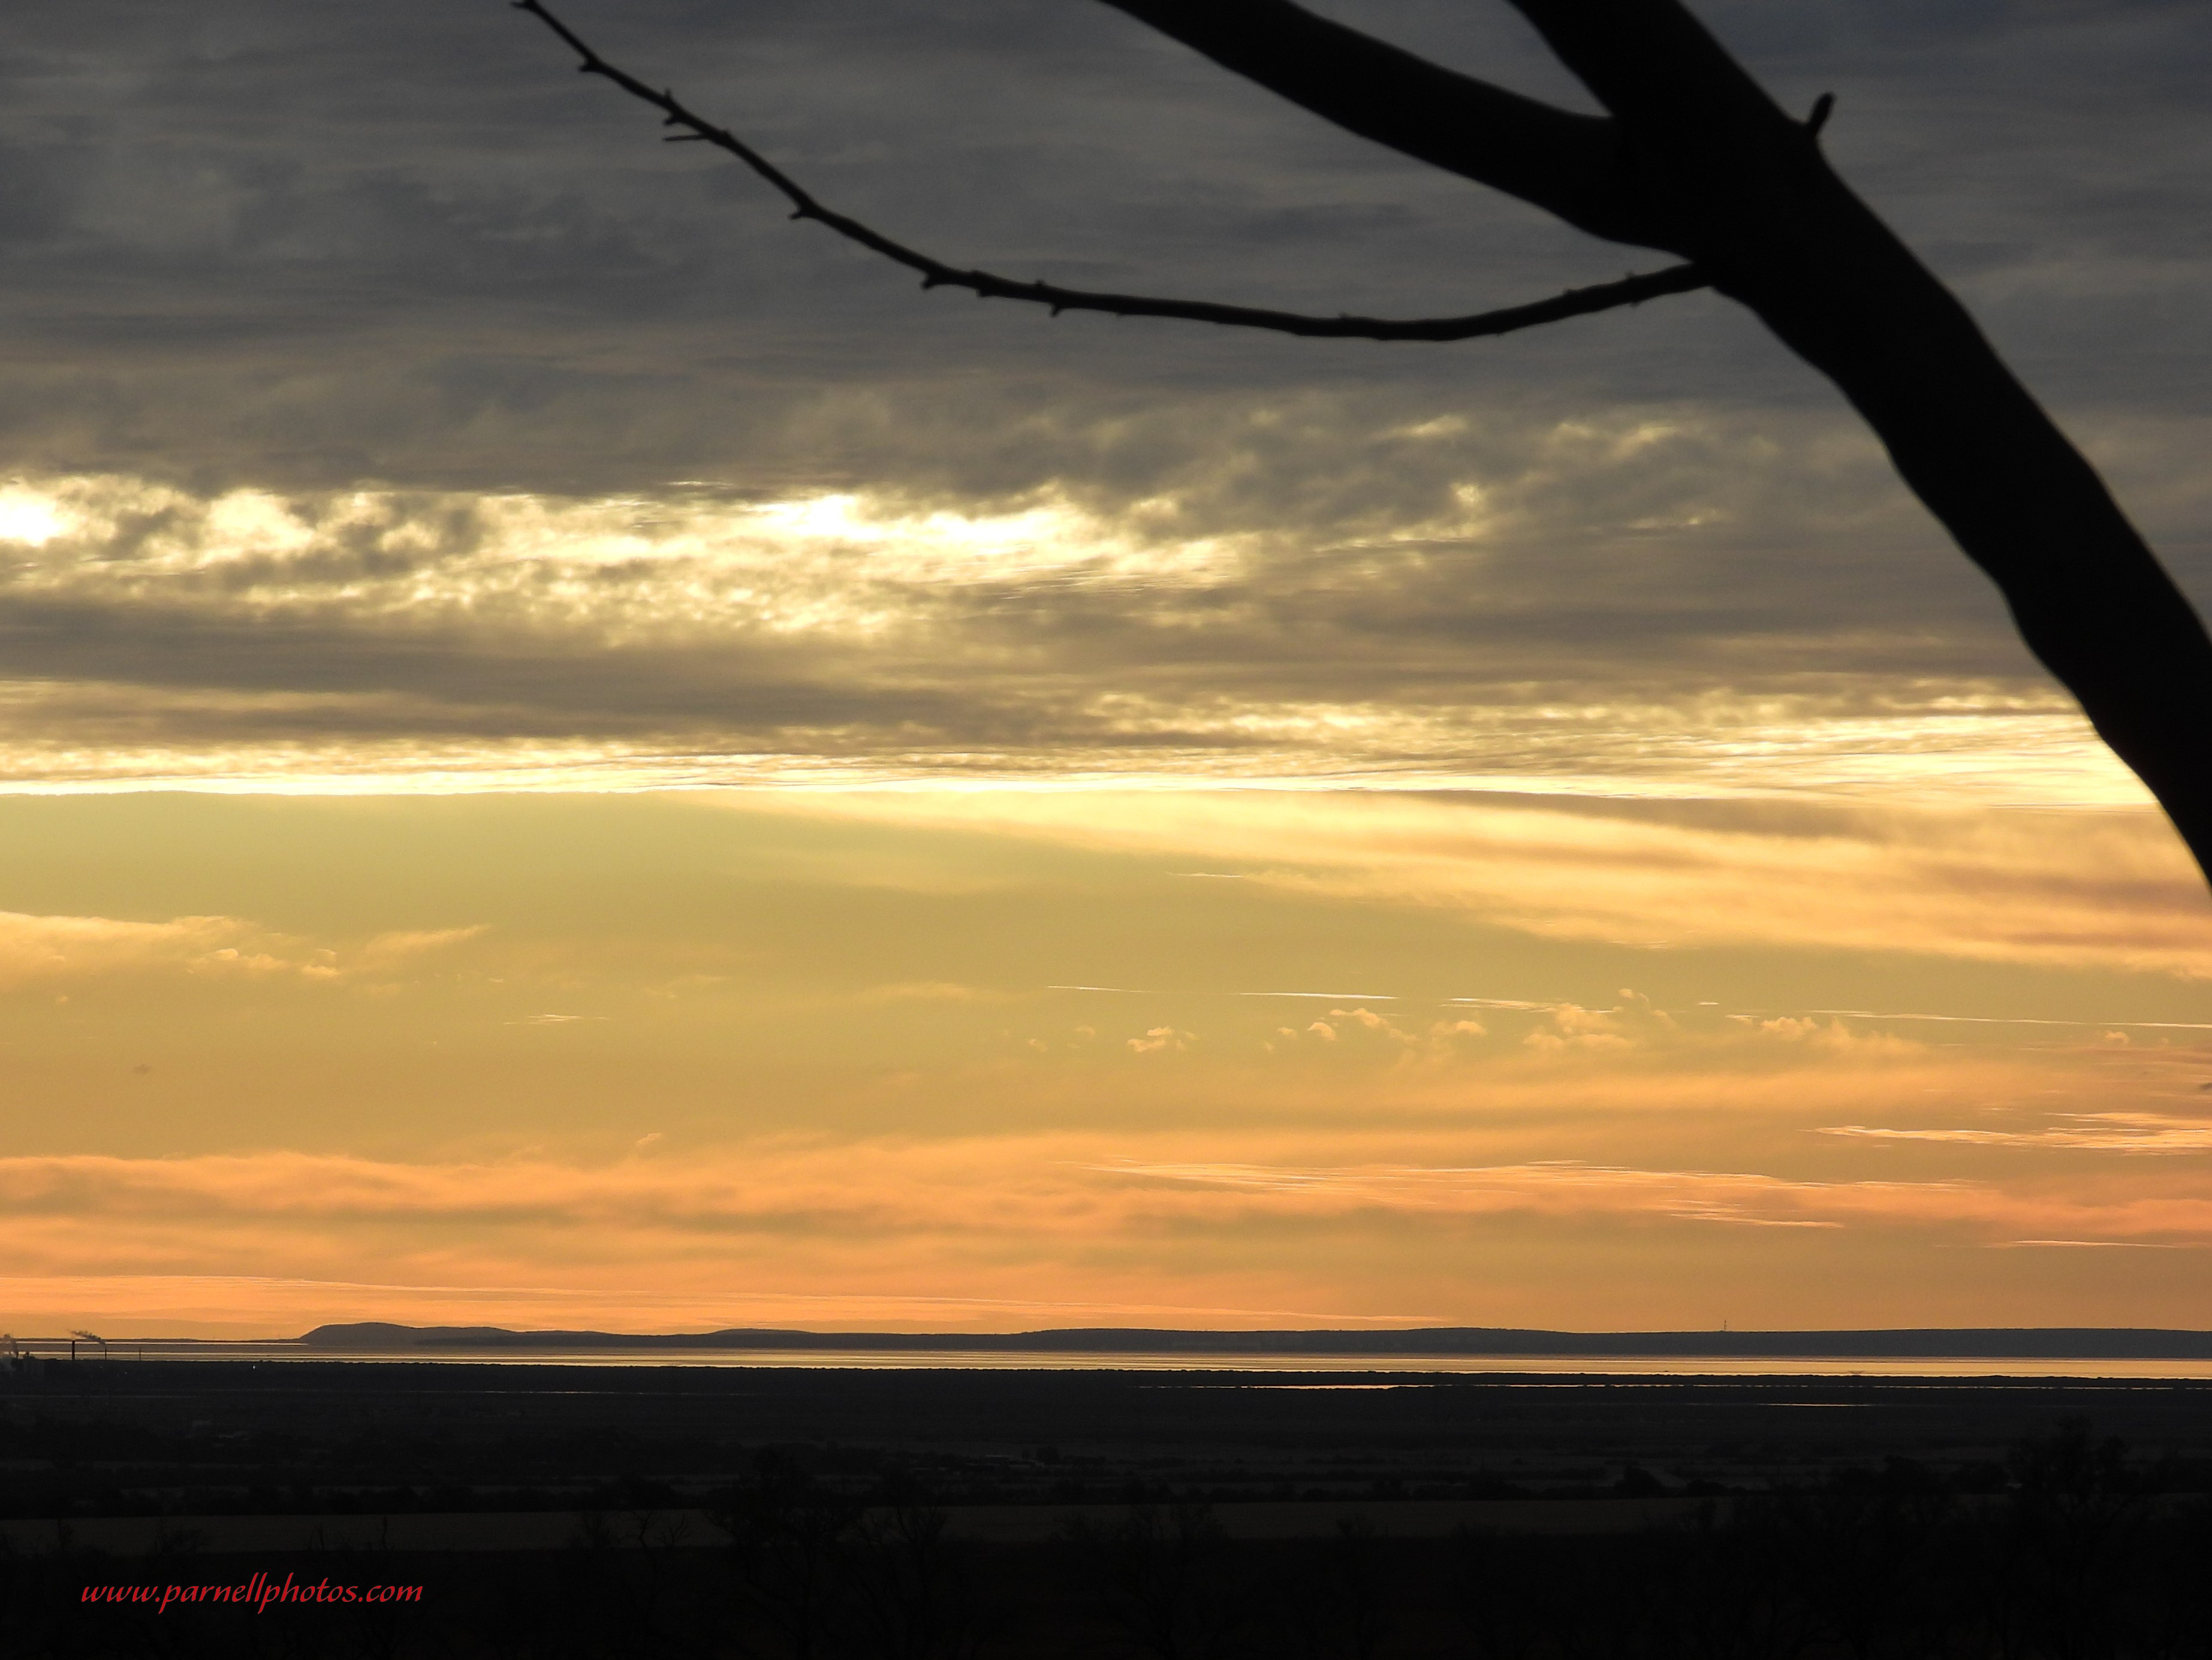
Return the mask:
<svg viewBox="0 0 2212 1660"><path fill-rule="evenodd" d="M1586 102L1504 4L1327 9ZM571 13L832 201L1013 274L1402 314L1632 263L1086 0ZM1845 170L2212 590L2201 9L1705 15L1787 102L1838 93ZM1513 771L1533 752L1498 734L1535 703L1613 710L1615 745L1710 725L1714 698L2048 707L1874 444L1712 296L1440 349L1051 323L785 223L489 0L20 18L0 469L181 493L93 491L86 524L0 559L18 747L1290 745L1323 767L1285 734L1347 705L1396 736L1343 765ZM241 542L239 488L299 533ZM626 513L690 542L586 559L484 491L566 504L571 535ZM951 572L743 522L818 491L907 526L1042 504L1073 542ZM1579 727L1595 749L1604 723Z"/></svg>

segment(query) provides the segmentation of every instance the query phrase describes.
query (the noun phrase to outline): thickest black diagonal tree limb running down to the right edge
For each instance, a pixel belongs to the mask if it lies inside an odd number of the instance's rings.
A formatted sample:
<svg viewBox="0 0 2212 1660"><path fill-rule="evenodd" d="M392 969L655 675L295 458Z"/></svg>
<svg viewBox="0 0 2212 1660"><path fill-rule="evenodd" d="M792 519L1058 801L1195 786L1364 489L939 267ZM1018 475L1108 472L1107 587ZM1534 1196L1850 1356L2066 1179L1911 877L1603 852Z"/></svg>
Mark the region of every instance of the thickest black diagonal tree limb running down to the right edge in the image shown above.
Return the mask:
<svg viewBox="0 0 2212 1660"><path fill-rule="evenodd" d="M2212 637L1966 307L1681 0L1513 4L1613 111L1668 245L1867 418L2212 873Z"/></svg>

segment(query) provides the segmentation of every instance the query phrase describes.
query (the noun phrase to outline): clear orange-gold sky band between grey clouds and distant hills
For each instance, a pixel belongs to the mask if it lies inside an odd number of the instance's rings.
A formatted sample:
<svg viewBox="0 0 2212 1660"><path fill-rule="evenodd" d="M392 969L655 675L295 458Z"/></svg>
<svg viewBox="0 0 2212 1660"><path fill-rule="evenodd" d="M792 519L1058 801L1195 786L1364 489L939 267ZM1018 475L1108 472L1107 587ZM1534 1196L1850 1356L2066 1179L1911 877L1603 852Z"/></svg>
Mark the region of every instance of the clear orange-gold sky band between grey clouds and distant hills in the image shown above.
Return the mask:
<svg viewBox="0 0 2212 1660"><path fill-rule="evenodd" d="M139 794L0 849L18 1333L2212 1289L2212 906L2141 811Z"/></svg>

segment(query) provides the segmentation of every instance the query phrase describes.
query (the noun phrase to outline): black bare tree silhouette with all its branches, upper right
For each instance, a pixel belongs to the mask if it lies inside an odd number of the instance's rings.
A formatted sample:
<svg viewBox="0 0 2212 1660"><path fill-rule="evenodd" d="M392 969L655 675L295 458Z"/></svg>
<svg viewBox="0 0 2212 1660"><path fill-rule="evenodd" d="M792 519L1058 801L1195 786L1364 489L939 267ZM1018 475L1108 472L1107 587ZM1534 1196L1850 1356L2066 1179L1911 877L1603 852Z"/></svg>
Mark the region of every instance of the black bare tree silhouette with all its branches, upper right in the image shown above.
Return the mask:
<svg viewBox="0 0 2212 1660"><path fill-rule="evenodd" d="M1511 0L1606 115L1573 115L1316 18L1290 0L1104 0L1336 126L1686 265L1460 318L1316 318L1095 294L958 270L814 201L737 135L513 0L580 69L728 150L812 219L984 298L1374 340L1464 340L1714 287L1820 369L1905 484L2004 595L2022 639L2166 807L2212 875L2212 639L2104 480L1964 305L1829 168L1823 95L1794 119L1681 0Z"/></svg>

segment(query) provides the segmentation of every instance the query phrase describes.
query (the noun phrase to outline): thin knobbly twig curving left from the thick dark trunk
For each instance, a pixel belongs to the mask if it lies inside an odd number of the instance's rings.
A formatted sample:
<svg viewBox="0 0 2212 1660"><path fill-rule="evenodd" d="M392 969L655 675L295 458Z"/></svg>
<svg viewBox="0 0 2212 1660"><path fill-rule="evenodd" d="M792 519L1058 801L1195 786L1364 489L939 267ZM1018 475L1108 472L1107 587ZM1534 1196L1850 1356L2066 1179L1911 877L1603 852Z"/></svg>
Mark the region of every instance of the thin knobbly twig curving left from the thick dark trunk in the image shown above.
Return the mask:
<svg viewBox="0 0 2212 1660"><path fill-rule="evenodd" d="M931 259L905 243L891 241L858 219L825 208L783 168L754 150L728 128L714 126L703 115L686 108L670 91L659 91L637 80L624 69L599 57L568 24L555 18L544 0L513 0L515 11L526 11L546 29L560 35L577 55L584 75L599 75L641 104L661 113L661 124L681 128L668 137L670 144L712 144L717 150L734 155L785 201L792 203L792 219L812 219L816 225L834 230L845 241L858 243L883 259L918 272L922 287L960 287L987 301L1026 301L1044 305L1055 316L1060 312L1106 312L1108 316L1172 316L1190 323L1214 323L1230 329L1272 329L1276 334L1298 334L1325 340L1475 340L1491 334L1513 334L1537 323L1559 323L1590 312L1610 312L1617 305L1639 305L1661 294L1688 294L1708 287L1710 279L1697 265L1672 265L1646 276L1628 276L1619 283L1595 287L1571 287L1548 301L1533 305L1509 305L1500 312L1473 312L1469 316L1427 318L1376 318L1376 316L1307 316L1303 312L1270 312L1252 305L1217 305L1214 301L1172 301L1150 294L1102 294L1082 287L1060 287L1057 283L1020 283L993 272L960 270L940 259Z"/></svg>

